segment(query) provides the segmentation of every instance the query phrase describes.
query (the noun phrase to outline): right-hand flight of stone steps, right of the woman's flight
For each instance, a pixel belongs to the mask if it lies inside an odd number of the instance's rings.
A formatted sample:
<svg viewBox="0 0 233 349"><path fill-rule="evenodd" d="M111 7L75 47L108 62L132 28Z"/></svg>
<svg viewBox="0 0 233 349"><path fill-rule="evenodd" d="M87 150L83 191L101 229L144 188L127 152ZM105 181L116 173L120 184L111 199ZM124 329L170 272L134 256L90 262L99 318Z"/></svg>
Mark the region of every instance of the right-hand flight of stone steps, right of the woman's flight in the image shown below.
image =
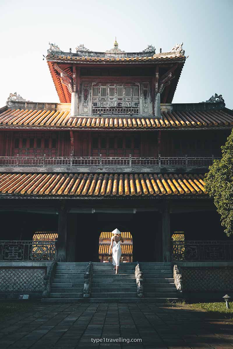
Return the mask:
<svg viewBox="0 0 233 349"><path fill-rule="evenodd" d="M179 299L170 262L139 262L139 265L144 276L144 299L154 302Z"/></svg>

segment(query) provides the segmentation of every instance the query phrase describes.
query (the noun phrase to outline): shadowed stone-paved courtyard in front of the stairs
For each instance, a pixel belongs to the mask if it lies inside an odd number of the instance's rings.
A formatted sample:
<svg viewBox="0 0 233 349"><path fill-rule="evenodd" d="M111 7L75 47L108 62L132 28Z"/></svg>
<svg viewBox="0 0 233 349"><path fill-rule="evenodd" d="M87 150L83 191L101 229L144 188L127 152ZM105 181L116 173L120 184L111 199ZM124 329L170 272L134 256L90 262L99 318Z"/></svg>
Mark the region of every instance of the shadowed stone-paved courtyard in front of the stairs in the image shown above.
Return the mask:
<svg viewBox="0 0 233 349"><path fill-rule="evenodd" d="M224 315L187 306L34 303L29 309L0 321L0 349L233 349L233 325ZM131 339L141 341L124 342Z"/></svg>

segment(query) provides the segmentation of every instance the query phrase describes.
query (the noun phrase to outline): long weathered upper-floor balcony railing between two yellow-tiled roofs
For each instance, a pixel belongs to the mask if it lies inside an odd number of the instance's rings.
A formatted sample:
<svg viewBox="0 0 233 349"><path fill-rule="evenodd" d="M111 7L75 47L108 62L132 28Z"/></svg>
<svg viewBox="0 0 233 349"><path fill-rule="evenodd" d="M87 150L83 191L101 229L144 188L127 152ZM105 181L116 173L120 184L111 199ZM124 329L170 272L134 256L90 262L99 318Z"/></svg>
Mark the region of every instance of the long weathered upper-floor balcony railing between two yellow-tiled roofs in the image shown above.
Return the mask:
<svg viewBox="0 0 233 349"><path fill-rule="evenodd" d="M74 156L74 157L23 157L1 156L0 166L181 166L181 167L208 167L213 163L214 157L103 157L103 156Z"/></svg>

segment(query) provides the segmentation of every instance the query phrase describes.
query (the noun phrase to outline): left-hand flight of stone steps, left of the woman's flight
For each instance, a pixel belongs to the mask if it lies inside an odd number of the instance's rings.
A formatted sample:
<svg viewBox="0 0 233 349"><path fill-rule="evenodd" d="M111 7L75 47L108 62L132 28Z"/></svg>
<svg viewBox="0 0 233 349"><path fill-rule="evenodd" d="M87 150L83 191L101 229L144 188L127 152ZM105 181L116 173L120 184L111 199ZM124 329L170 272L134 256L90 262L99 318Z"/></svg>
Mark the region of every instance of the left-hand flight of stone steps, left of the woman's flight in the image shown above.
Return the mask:
<svg viewBox="0 0 233 349"><path fill-rule="evenodd" d="M42 302L71 303L83 299L83 275L88 262L58 262L49 298Z"/></svg>

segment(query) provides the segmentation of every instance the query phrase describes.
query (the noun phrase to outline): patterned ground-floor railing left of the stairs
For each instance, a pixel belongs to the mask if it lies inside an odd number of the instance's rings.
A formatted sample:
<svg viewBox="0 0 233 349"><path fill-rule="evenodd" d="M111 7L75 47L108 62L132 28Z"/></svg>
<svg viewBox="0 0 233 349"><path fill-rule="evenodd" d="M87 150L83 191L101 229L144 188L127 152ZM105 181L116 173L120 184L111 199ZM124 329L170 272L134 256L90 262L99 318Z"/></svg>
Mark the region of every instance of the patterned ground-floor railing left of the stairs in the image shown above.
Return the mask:
<svg viewBox="0 0 233 349"><path fill-rule="evenodd" d="M51 261L56 259L55 241L0 241L0 261Z"/></svg>

